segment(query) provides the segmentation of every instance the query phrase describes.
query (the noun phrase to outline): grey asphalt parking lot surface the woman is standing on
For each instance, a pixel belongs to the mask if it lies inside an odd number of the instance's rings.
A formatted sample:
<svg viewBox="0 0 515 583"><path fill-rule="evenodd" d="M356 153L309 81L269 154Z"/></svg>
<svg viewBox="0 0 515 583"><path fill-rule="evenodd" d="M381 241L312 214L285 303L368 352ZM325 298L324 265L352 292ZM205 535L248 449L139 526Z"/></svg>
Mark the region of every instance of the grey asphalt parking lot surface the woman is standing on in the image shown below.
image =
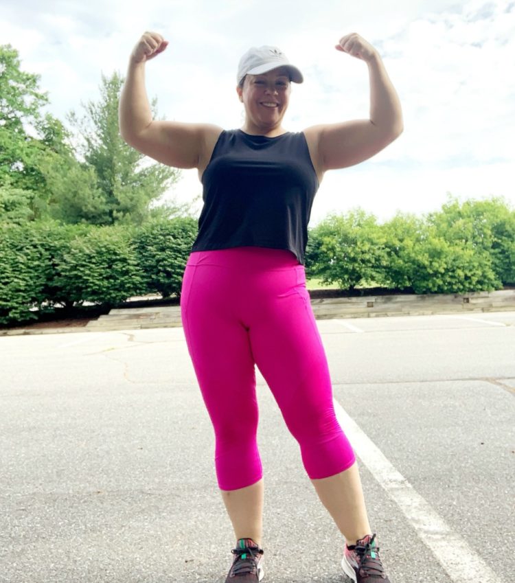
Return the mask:
<svg viewBox="0 0 515 583"><path fill-rule="evenodd" d="M317 325L391 582L511 582L515 311ZM1 583L225 581L182 328L4 336L0 370ZM257 379L264 583L341 582L341 535Z"/></svg>

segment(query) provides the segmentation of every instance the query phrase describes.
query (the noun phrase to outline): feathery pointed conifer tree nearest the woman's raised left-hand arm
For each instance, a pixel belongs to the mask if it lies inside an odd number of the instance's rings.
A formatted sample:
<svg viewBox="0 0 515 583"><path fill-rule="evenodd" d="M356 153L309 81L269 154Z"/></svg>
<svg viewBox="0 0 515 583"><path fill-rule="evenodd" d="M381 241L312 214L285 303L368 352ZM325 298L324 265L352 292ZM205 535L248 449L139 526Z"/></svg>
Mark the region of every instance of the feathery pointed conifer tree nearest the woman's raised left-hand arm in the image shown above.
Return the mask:
<svg viewBox="0 0 515 583"><path fill-rule="evenodd" d="M103 199L102 214L96 222L141 224L156 202L179 179L179 170L163 164L148 163L119 135L118 104L124 79L119 73L102 75L100 101L83 104L86 115L71 111L68 121L78 130L82 146L78 153L95 169L98 192ZM155 110L156 102L152 102ZM176 215L185 214L190 205L176 205ZM100 207L95 207L100 212ZM170 214L174 214L173 212Z"/></svg>

